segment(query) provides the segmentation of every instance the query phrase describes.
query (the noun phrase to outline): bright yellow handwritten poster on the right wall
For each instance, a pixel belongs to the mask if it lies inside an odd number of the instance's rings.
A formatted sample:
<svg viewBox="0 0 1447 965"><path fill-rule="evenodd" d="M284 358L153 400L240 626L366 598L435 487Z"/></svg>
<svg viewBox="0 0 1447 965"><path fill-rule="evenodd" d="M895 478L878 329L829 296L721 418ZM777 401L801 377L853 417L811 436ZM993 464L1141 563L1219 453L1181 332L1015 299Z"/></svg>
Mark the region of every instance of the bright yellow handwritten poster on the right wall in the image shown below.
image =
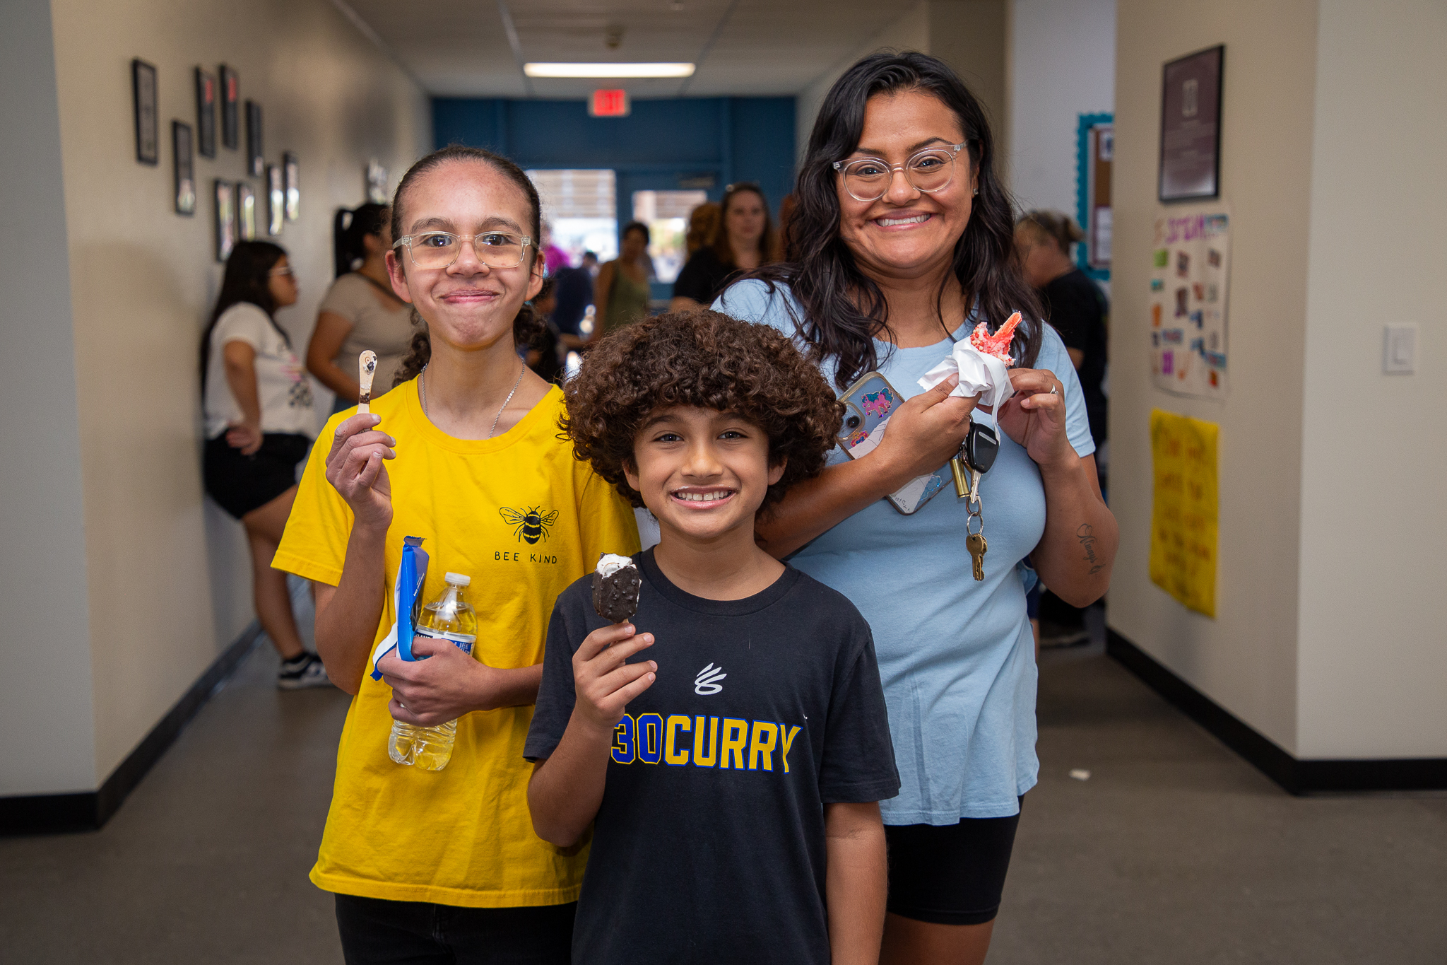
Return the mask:
<svg viewBox="0 0 1447 965"><path fill-rule="evenodd" d="M1215 422L1150 411L1150 582L1215 618Z"/></svg>

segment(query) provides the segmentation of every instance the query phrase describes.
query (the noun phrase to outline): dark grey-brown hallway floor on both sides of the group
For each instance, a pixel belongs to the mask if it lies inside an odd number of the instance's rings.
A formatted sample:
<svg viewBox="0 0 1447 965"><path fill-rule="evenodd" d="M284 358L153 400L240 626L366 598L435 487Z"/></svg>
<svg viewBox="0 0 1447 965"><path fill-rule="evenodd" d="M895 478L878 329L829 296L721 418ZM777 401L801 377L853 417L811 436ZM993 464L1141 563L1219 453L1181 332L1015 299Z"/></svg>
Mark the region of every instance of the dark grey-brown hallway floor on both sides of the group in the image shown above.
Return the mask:
<svg viewBox="0 0 1447 965"><path fill-rule="evenodd" d="M0 839L0 959L341 961L307 871L349 699L273 674L263 641L103 830ZM1039 748L991 965L1447 962L1447 796L1289 797L1098 641L1045 654Z"/></svg>

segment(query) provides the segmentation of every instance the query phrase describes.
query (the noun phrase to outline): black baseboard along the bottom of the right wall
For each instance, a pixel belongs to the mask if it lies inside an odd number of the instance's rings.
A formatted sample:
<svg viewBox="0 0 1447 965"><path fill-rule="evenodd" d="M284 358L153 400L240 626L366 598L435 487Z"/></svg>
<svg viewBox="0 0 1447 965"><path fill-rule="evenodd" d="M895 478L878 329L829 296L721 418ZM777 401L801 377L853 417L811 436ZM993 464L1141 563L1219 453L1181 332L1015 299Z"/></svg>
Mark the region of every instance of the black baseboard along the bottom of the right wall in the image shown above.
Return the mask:
<svg viewBox="0 0 1447 965"><path fill-rule="evenodd" d="M1447 790L1447 758L1301 761L1110 628L1106 652L1291 794Z"/></svg>

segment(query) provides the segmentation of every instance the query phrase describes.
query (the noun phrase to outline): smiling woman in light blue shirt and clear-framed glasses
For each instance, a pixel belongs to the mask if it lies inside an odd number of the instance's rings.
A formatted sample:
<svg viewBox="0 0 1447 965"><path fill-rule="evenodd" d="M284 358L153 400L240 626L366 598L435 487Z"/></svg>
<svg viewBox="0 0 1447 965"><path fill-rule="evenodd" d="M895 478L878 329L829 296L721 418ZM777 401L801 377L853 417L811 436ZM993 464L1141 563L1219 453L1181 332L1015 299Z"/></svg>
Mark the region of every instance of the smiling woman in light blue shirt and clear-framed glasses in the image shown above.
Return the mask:
<svg viewBox="0 0 1447 965"><path fill-rule="evenodd" d="M1039 770L1027 584L1039 573L1090 603L1116 554L1079 381L1019 275L993 153L984 111L943 62L860 61L820 107L786 263L715 304L793 336L839 394L874 370L912 396L874 451L851 462L835 450L758 522L765 548L844 592L874 631L903 778L881 804L884 964L984 961ZM969 430L974 398L949 396L952 379L928 392L916 379L977 321L993 331L1016 310L1016 395L981 482L988 553L975 582L967 503L951 486L907 516L884 496L945 466Z"/></svg>

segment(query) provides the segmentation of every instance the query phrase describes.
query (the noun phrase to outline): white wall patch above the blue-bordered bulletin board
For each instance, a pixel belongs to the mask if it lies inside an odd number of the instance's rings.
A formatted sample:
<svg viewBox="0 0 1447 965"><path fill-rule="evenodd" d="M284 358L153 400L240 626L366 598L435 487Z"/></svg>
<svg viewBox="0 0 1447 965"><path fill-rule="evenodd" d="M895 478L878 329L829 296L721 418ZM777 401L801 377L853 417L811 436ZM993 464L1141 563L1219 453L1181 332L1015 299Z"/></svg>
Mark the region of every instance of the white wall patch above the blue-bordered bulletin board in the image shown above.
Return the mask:
<svg viewBox="0 0 1447 965"><path fill-rule="evenodd" d="M1116 107L1116 0L1011 0L1009 16L1003 168L1024 210L1075 217L1079 116Z"/></svg>

